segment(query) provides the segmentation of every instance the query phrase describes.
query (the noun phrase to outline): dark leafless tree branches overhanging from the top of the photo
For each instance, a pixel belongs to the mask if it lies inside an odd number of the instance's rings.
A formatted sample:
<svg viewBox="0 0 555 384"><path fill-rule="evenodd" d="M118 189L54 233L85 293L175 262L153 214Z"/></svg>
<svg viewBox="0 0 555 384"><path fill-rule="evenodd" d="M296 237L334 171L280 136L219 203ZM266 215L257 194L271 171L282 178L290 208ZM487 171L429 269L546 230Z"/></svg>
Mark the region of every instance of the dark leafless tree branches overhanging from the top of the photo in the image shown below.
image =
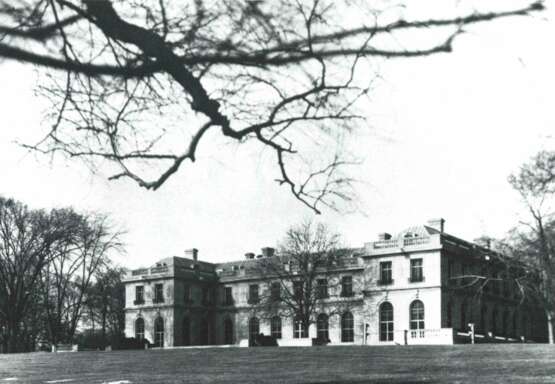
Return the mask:
<svg viewBox="0 0 555 384"><path fill-rule="evenodd" d="M105 160L111 179L156 190L201 142L255 141L319 213L354 199L341 143L362 122L371 59L450 52L471 24L542 9L407 20L362 0L2 0L0 57L50 79L52 126L28 148Z"/></svg>

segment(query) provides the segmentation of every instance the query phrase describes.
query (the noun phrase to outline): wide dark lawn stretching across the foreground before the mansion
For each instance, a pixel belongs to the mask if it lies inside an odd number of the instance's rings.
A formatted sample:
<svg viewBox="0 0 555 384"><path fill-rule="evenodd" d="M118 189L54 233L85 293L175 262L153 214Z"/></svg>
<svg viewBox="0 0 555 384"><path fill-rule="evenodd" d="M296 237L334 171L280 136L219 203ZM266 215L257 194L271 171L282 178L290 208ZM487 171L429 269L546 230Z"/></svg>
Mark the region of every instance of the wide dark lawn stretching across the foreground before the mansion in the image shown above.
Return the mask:
<svg viewBox="0 0 555 384"><path fill-rule="evenodd" d="M0 355L0 383L4 382L554 383L555 347L341 346Z"/></svg>

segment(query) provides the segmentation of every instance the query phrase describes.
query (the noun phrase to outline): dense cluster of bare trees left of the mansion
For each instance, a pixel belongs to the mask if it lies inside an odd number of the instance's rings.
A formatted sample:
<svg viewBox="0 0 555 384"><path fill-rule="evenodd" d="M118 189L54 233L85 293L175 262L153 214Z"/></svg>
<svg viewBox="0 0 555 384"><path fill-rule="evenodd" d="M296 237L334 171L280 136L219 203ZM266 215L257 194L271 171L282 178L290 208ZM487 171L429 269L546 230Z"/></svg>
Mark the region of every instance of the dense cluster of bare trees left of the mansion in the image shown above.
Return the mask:
<svg viewBox="0 0 555 384"><path fill-rule="evenodd" d="M73 342L85 312L104 338L121 333L122 270L110 261L120 237L106 216L0 197L1 350Z"/></svg>

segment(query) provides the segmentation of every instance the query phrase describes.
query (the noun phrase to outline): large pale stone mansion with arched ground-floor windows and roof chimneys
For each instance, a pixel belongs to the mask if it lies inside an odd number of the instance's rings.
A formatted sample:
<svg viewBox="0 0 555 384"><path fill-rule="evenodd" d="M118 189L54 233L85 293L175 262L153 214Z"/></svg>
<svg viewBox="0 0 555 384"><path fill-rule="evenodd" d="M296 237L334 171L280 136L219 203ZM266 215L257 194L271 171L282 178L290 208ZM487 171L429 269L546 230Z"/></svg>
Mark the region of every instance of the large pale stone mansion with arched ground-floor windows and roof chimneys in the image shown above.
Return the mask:
<svg viewBox="0 0 555 384"><path fill-rule="evenodd" d="M253 267L279 257L273 248L221 264L200 261L192 249L127 274L125 332L159 347L248 345L260 333L281 346L453 344L469 342L470 327L476 342L544 341L540 307L503 281L492 252L445 233L443 219L382 233L318 279L324 301L340 300L344 309L324 306L304 332L294 319L256 311L271 282ZM493 277L479 295L465 288L473 275ZM328 286L329 279L340 283Z"/></svg>

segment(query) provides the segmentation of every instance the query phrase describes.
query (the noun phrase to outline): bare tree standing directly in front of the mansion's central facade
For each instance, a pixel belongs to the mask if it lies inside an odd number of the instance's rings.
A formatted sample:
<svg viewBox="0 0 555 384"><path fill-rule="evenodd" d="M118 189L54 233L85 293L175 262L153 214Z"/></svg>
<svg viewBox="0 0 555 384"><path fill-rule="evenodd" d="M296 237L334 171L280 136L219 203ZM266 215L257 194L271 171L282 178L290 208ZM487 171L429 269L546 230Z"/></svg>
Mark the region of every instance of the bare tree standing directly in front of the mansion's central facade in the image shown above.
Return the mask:
<svg viewBox="0 0 555 384"><path fill-rule="evenodd" d="M354 290L342 291L341 270L353 259L339 247L339 235L324 224L304 222L287 231L278 256L257 260L265 282L253 311L271 320L289 318L308 337L318 314L341 314L352 306Z"/></svg>

